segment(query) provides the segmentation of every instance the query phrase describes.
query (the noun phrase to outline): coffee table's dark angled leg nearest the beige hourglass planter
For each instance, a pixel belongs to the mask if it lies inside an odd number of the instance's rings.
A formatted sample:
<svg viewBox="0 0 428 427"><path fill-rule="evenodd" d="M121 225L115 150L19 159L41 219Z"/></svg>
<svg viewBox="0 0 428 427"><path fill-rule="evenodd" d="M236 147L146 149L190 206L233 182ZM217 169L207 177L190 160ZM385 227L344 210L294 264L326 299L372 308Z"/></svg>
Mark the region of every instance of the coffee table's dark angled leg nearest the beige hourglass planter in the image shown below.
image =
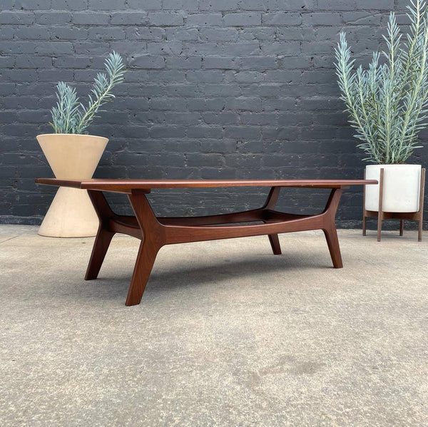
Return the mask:
<svg viewBox="0 0 428 427"><path fill-rule="evenodd" d="M91 259L89 259L85 275L85 280L92 280L98 277L104 257L106 257L107 249L115 233L108 230L108 220L113 217L114 214L108 205L106 197L104 197L101 191L95 190L88 190L88 195L100 220L98 232L93 244Z"/></svg>

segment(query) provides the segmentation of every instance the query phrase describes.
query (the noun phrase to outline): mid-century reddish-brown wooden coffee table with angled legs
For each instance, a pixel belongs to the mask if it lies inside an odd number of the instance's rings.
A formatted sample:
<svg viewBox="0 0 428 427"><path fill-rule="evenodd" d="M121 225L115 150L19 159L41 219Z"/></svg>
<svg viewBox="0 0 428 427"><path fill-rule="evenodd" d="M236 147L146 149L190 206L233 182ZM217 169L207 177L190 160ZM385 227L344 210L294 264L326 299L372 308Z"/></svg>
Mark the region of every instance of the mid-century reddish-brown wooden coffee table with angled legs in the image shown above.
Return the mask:
<svg viewBox="0 0 428 427"><path fill-rule="evenodd" d="M267 235L274 254L280 254L278 233L322 230L332 263L342 268L335 215L344 188L350 185L377 184L376 180L61 180L39 178L38 184L88 190L100 225L86 270L86 280L96 279L111 238L123 233L141 240L126 305L139 304L159 249L163 245ZM158 188L270 187L263 207L245 212L204 217L156 217L146 197ZM316 215L277 212L275 205L282 187L330 189L325 209ZM116 215L103 192L128 195L135 216ZM254 224L248 224L254 222ZM245 223L245 224L243 224Z"/></svg>

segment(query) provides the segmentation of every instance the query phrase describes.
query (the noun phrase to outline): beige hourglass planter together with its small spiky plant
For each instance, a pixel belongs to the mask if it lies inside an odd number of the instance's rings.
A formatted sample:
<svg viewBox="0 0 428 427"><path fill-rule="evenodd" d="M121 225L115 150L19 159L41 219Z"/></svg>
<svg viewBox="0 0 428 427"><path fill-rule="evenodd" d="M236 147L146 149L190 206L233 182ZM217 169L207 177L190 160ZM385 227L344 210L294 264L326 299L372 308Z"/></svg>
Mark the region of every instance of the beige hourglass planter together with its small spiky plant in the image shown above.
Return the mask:
<svg viewBox="0 0 428 427"><path fill-rule="evenodd" d="M37 135L37 140L56 178L92 178L108 143L102 136L88 135L88 125L100 107L113 101L114 86L123 81L125 66L118 53L110 53L106 72L98 73L86 105L76 89L64 82L56 86L57 103L51 110L54 133ZM60 187L39 229L49 237L88 237L96 235L98 217L86 190Z"/></svg>

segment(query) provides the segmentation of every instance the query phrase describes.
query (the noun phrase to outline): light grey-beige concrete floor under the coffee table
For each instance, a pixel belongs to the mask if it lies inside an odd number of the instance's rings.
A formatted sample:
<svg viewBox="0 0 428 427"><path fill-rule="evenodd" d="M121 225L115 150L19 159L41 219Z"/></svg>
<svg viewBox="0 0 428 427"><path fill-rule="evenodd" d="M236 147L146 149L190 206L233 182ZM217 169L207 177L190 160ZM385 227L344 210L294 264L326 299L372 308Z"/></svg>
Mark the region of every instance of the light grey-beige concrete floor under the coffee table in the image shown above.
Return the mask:
<svg viewBox="0 0 428 427"><path fill-rule="evenodd" d="M427 426L428 235L340 230L164 247L0 227L1 426Z"/></svg>

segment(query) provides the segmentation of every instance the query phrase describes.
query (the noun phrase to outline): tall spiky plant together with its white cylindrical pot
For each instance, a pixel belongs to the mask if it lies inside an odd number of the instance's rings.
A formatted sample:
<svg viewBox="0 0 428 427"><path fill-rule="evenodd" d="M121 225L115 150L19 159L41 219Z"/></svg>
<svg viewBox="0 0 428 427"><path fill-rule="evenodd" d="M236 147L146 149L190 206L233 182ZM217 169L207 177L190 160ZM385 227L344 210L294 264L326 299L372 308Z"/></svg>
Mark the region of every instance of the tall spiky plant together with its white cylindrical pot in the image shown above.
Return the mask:
<svg viewBox="0 0 428 427"><path fill-rule="evenodd" d="M383 212L417 212L421 165L405 164L418 144L419 130L427 127L428 9L425 1L407 6L410 31L402 37L394 13L387 25L387 51L374 52L367 69L354 68L355 60L340 33L336 71L340 98L350 124L357 131L357 146L372 165L366 178L379 180L384 169ZM379 185L365 190L365 209L379 208Z"/></svg>

